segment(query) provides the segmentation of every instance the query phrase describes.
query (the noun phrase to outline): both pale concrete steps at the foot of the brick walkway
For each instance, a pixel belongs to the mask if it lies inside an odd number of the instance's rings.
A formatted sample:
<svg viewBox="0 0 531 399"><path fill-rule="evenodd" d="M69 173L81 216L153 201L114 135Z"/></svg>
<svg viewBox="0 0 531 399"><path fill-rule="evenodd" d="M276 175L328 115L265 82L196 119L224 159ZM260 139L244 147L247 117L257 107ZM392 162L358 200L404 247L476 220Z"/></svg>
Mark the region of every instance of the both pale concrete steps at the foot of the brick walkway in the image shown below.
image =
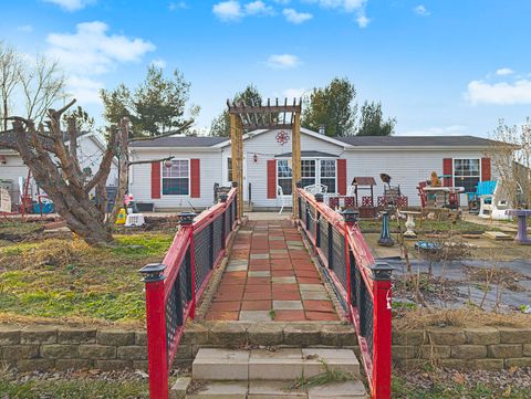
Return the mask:
<svg viewBox="0 0 531 399"><path fill-rule="evenodd" d="M335 371L326 384L308 385L312 377ZM173 399L362 399L360 363L352 349L282 348L278 350L199 349L192 377L180 378ZM188 391L188 392L187 392Z"/></svg>

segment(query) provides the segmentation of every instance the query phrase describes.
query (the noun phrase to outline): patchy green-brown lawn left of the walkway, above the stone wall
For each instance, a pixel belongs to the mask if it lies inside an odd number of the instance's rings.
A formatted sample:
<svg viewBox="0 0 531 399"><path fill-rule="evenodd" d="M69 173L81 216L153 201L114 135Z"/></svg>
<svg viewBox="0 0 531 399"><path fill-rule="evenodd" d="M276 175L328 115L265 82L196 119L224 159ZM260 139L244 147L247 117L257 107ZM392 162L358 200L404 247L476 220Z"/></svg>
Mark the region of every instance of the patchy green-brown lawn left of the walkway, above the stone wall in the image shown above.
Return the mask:
<svg viewBox="0 0 531 399"><path fill-rule="evenodd" d="M107 249L41 234L35 240L0 242L0 322L44 318L143 325L144 283L138 269L163 259L173 232L115 238L117 245Z"/></svg>

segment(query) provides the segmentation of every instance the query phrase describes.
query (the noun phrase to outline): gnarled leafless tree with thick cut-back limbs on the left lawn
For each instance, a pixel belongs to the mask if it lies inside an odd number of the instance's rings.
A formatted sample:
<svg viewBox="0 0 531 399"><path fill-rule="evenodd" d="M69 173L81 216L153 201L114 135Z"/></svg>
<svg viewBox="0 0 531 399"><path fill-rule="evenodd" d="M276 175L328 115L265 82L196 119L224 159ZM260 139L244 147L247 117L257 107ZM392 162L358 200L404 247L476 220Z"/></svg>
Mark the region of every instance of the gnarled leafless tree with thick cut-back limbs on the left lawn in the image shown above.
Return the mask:
<svg viewBox="0 0 531 399"><path fill-rule="evenodd" d="M112 227L123 207L122 198L127 189L129 166L162 162L171 157L129 161L129 143L142 138L129 138L129 123L127 118L123 118L119 127L113 126L108 129L107 148L102 161L97 170L92 171L93 176L87 176L80 167L77 155L80 132L75 117L67 118L66 134L61 128L61 116L74 103L75 99L72 99L58 111L49 109L48 129L44 129L42 124L37 126L31 118L8 117L7 119L13 123L13 130L9 133L14 135L14 139L9 139L8 134L0 135L0 145L20 154L37 183L53 201L56 212L65 220L72 232L91 245L107 245L113 243ZM187 122L181 129L191 123L192 120ZM115 157L118 159L118 187L114 206L107 213L107 202L113 198L107 198L105 183ZM91 199L93 191L95 201Z"/></svg>

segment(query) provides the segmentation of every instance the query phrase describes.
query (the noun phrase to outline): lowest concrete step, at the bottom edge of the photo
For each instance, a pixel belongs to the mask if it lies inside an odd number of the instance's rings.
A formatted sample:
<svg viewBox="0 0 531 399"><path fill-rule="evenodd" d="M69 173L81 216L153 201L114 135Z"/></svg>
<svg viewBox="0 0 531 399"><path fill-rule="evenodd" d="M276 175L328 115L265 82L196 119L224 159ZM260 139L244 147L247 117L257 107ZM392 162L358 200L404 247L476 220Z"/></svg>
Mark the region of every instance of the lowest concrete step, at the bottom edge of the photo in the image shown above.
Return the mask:
<svg viewBox="0 0 531 399"><path fill-rule="evenodd" d="M186 380L186 381L181 381ZM170 399L366 399L360 380L327 382L305 389L292 389L289 381L201 381L192 388L186 377L170 390Z"/></svg>

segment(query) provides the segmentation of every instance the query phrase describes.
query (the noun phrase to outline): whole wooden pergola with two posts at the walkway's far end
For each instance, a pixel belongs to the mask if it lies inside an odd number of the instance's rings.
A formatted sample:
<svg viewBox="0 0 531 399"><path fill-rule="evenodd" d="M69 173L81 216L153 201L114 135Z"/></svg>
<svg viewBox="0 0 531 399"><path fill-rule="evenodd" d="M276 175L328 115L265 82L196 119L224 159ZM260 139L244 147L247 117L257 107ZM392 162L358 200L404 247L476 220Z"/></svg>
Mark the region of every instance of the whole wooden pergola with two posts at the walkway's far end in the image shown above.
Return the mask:
<svg viewBox="0 0 531 399"><path fill-rule="evenodd" d="M257 129L291 129L292 130L292 196L293 217L298 216L296 182L301 180L301 99L293 103L274 104L268 98L267 104L232 103L227 99L230 115L230 141L232 149L232 181L243 186L243 139L244 133ZM238 196L238 216L243 214L243 196Z"/></svg>

